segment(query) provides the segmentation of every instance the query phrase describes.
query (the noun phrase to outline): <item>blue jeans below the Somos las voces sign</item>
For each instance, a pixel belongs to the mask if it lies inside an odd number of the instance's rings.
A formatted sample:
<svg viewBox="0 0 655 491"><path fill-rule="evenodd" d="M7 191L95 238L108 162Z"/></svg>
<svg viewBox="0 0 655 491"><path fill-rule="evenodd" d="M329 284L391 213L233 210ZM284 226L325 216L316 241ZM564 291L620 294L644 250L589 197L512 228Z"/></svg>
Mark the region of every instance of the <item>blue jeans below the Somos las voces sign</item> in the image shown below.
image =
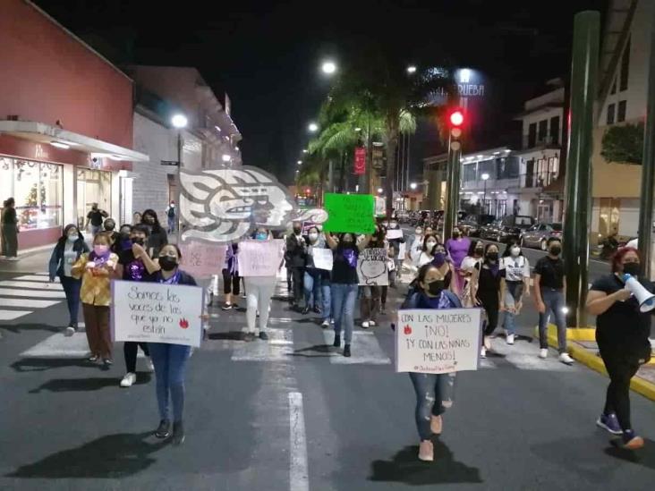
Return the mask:
<svg viewBox="0 0 655 491"><path fill-rule="evenodd" d="M168 394L173 401L173 420L182 421L184 411L184 369L191 347L183 344L148 343L157 377L159 418L170 421Z"/></svg>

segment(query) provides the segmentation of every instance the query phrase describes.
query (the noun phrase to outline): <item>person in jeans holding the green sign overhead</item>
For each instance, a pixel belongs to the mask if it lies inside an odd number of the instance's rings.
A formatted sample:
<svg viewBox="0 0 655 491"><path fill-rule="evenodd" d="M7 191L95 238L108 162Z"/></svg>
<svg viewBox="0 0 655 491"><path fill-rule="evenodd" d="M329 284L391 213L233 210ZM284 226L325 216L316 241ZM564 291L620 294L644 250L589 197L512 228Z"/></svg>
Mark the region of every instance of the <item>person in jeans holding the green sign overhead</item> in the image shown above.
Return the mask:
<svg viewBox="0 0 655 491"><path fill-rule="evenodd" d="M327 246L333 250L332 266L332 317L335 319L335 341L333 346L341 347L341 331L344 330L344 356L351 356L353 342L354 308L360 283L357 276L357 258L369 245L371 235L366 235L359 244L354 233L341 233L338 241L332 234L326 235Z"/></svg>

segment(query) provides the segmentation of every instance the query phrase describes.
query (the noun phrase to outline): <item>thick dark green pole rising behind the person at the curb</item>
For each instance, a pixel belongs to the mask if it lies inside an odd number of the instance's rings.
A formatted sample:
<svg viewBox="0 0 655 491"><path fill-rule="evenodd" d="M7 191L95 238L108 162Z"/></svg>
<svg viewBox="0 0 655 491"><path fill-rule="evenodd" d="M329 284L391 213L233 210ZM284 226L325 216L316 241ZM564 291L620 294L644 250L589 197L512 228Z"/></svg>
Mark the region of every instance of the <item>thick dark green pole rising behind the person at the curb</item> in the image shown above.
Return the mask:
<svg viewBox="0 0 655 491"><path fill-rule="evenodd" d="M593 106L598 80L600 13L585 11L574 17L571 64L571 128L566 168L564 258L568 326L587 326L584 308L589 278L591 225L591 151Z"/></svg>

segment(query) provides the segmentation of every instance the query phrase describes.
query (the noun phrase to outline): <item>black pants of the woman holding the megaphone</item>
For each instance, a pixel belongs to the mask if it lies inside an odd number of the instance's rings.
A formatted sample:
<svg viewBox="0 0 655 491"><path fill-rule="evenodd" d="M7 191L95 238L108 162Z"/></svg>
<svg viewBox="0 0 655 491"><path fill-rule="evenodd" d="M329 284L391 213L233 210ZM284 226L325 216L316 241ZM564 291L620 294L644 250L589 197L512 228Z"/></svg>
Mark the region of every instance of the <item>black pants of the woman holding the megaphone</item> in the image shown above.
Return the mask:
<svg viewBox="0 0 655 491"><path fill-rule="evenodd" d="M632 429L630 421L630 379L639 369L638 356L631 356L616 343L598 339L600 357L608 370L609 385L605 399L605 414L617 413L618 424L623 430Z"/></svg>

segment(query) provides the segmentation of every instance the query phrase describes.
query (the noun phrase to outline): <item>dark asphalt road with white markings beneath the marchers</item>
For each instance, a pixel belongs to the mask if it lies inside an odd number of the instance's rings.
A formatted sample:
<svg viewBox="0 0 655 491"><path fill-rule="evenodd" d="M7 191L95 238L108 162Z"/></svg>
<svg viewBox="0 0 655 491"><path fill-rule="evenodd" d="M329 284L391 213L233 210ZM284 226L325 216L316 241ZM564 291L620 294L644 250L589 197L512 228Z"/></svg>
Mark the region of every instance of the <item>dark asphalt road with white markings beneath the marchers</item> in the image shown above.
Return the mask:
<svg viewBox="0 0 655 491"><path fill-rule="evenodd" d="M416 459L415 398L394 373L389 318L358 329L345 359L327 345L332 334L283 301L269 343L240 340L242 312L211 310L187 373L186 443L162 444L153 377L119 388L120 344L110 371L82 361L84 334L59 334L64 302L34 307L50 290L5 283L34 282L16 279L34 272L0 274L0 312L30 311L0 321L0 489L636 490L655 479L653 404L632 396L647 447L610 447L594 426L607 379L554 351L539 360L532 309L515 346L497 338L496 356L457 377L433 463Z"/></svg>

